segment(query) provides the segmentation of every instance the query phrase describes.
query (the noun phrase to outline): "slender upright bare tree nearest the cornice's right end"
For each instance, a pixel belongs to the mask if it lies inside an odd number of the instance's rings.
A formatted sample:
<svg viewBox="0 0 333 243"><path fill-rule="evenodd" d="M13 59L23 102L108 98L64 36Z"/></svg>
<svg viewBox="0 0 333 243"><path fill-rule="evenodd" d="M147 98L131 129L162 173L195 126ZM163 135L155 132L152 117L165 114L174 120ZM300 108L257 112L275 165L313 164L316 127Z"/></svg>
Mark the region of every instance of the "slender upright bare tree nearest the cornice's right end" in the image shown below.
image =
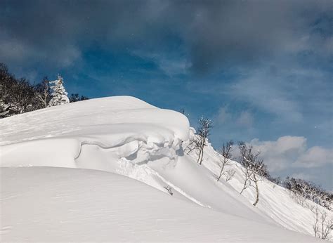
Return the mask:
<svg viewBox="0 0 333 243"><path fill-rule="evenodd" d="M211 120L201 117L199 119L199 127L197 129L197 139L194 140L195 146L199 150L199 155L197 157L197 163L199 164L202 164L202 159L204 157L204 146L207 145L210 130Z"/></svg>

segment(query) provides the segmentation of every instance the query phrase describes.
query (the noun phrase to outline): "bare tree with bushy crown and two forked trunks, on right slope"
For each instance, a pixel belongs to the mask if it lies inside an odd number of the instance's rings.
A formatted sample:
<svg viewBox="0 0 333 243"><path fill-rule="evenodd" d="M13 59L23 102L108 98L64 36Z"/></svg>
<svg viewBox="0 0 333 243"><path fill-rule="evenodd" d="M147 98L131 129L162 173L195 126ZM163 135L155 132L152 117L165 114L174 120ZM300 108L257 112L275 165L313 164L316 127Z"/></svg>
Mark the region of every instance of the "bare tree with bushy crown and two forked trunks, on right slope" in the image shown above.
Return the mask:
<svg viewBox="0 0 333 243"><path fill-rule="evenodd" d="M263 159L259 159L260 152L254 152L253 146L247 146L244 142L240 142L240 164L242 164L242 171L244 173L244 185L242 192L249 187L253 187L256 190L256 201L254 206L259 202L259 185L258 182L262 176L266 174L267 168L263 164ZM254 185L252 184L254 183Z"/></svg>

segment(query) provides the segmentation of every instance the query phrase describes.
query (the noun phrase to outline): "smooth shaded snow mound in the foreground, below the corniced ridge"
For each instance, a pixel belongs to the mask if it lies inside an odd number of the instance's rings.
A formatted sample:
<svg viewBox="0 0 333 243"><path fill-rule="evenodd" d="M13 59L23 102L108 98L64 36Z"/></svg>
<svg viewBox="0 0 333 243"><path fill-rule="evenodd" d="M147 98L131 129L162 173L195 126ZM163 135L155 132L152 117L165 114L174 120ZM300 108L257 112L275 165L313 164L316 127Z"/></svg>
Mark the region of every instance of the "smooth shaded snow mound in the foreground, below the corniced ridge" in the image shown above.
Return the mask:
<svg viewBox="0 0 333 243"><path fill-rule="evenodd" d="M185 202L103 171L3 168L1 184L1 241L311 239Z"/></svg>

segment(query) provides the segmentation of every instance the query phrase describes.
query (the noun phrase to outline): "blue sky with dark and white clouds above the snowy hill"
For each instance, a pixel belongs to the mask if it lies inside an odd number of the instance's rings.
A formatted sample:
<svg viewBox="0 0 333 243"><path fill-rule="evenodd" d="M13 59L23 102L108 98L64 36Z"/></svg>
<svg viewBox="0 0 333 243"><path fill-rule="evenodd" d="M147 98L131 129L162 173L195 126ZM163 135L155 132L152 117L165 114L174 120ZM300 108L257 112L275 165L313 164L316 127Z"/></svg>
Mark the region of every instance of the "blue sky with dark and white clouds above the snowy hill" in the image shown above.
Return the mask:
<svg viewBox="0 0 333 243"><path fill-rule="evenodd" d="M214 147L244 140L273 175L332 190L332 16L332 1L5 0L0 62L210 117Z"/></svg>

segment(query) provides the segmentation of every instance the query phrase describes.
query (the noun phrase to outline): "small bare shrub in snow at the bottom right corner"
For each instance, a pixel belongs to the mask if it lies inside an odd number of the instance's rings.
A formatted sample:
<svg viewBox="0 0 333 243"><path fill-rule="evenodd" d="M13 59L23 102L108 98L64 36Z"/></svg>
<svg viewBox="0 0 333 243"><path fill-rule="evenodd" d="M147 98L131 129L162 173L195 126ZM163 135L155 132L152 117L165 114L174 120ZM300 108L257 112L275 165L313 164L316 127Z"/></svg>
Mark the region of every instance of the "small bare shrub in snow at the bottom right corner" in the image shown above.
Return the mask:
<svg viewBox="0 0 333 243"><path fill-rule="evenodd" d="M331 239L331 232L333 229L333 221L327 218L326 211L319 211L318 207L315 209L315 223L313 224L313 232L315 237L320 239Z"/></svg>

